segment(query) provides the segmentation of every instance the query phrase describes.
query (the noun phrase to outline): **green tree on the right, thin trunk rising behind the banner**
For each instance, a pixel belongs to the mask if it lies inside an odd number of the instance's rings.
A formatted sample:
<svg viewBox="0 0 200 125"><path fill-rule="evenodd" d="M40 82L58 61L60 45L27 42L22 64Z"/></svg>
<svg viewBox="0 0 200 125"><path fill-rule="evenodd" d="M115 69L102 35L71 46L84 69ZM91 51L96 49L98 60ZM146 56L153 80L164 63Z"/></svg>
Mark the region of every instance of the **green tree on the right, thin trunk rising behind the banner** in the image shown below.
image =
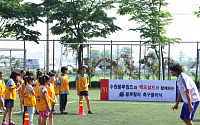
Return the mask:
<svg viewBox="0 0 200 125"><path fill-rule="evenodd" d="M172 16L170 12L162 10L168 3L165 0L119 0L120 15L131 15L130 21L136 21L141 24L139 27L129 30L139 31L141 39L147 40L147 43L161 44L163 78L164 76L164 58L163 48L170 43L179 42L180 39L168 38L165 36L165 26L170 24ZM159 58L159 50L156 46L151 46L155 50L156 56Z"/></svg>

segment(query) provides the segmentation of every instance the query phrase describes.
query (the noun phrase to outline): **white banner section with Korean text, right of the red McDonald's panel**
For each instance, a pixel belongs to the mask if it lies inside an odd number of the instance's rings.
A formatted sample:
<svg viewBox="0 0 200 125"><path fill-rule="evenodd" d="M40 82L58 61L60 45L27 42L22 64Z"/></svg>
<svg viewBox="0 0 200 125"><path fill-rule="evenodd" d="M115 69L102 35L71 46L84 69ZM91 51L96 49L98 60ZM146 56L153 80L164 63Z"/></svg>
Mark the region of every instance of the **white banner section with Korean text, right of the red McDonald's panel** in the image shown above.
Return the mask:
<svg viewBox="0 0 200 125"><path fill-rule="evenodd" d="M176 101L175 81L109 80L109 100Z"/></svg>

